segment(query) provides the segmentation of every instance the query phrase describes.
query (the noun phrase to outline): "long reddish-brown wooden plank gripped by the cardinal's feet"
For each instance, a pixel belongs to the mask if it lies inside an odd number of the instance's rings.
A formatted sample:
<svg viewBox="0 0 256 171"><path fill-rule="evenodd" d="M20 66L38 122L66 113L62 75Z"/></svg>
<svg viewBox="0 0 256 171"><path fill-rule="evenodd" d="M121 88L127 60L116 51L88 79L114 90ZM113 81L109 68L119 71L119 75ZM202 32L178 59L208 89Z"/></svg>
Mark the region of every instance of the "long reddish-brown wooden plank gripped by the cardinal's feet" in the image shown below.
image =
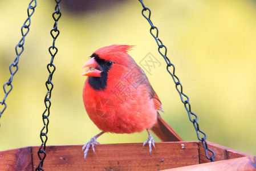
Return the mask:
<svg viewBox="0 0 256 171"><path fill-rule="evenodd" d="M182 148L183 145L184 148ZM155 143L149 155L148 146L133 144L97 144L89 150L86 161L82 145L47 146L44 170L161 170L199 164L197 142ZM38 165L38 146L32 147L34 168Z"/></svg>

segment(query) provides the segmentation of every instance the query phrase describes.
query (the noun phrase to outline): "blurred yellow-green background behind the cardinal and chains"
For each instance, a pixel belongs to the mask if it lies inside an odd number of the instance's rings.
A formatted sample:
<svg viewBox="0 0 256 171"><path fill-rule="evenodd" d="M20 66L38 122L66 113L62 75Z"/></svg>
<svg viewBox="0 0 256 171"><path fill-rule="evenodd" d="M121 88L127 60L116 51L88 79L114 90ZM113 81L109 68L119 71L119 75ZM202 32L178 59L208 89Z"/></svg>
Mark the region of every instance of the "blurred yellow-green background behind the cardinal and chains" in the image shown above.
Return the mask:
<svg viewBox="0 0 256 171"><path fill-rule="evenodd" d="M0 83L10 78L9 64L21 39L29 0L0 1ZM198 115L207 140L256 155L256 2L253 0L144 0L152 21L168 47L168 57ZM38 1L31 18L25 51L7 97L0 123L0 150L40 145L46 65L55 1ZM185 141L197 140L164 59L149 34L138 1L68 1L60 4L59 52L55 57L52 106L47 145L84 144L99 129L88 118L82 101L86 77L80 69L97 48L135 45L130 54L140 62L149 52L161 66L148 78L162 101L162 117ZM0 88L0 101L4 94ZM141 143L147 133L105 134L105 143ZM159 141L155 137L156 141Z"/></svg>

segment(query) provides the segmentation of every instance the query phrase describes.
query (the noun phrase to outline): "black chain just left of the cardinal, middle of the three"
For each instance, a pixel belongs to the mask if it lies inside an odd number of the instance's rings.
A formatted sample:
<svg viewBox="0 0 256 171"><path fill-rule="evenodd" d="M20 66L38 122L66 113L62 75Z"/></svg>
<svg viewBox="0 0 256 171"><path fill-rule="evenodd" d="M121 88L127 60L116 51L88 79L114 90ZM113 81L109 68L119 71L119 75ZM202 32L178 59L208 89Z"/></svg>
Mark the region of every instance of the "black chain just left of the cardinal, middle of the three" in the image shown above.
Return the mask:
<svg viewBox="0 0 256 171"><path fill-rule="evenodd" d="M47 64L47 70L49 72L49 76L48 79L46 81L46 88L47 88L47 93L46 96L44 97L44 104L46 106L46 109L43 112L42 118L43 118L43 128L40 131L40 139L42 141L42 144L39 147L38 150L38 157L39 157L39 164L38 167L35 170L43 170L43 161L44 158L46 158L46 142L48 140L47 137L47 133L48 133L48 124L49 124L49 116L50 116L50 107L51 107L51 91L52 88L54 88L54 84L52 83L52 75L54 74L54 71L56 70L55 65L53 64L54 62L54 57L58 52L58 48L55 46L55 41L56 38L59 36L59 30L58 30L58 21L62 15L62 13L60 13L60 3L61 0L56 2L56 6L55 6L55 11L52 14L52 18L54 19L55 23L54 23L54 28L52 28L52 30L50 31L50 34L52 36L53 42L52 42L52 46L50 46L48 48L48 51L50 52L51 55L51 62L49 64ZM45 131L44 131L45 129ZM42 156L41 156L42 155Z"/></svg>

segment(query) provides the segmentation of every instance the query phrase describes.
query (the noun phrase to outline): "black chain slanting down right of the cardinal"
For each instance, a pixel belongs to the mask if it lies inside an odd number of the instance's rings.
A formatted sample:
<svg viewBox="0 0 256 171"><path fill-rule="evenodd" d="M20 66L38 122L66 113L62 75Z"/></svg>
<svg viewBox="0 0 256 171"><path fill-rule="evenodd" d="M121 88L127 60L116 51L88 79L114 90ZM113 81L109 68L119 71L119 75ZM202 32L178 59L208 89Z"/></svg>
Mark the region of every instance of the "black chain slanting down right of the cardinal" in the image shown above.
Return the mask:
<svg viewBox="0 0 256 171"><path fill-rule="evenodd" d="M180 83L180 79L178 79L178 77L175 75L175 67L170 62L168 57L166 56L167 48L166 48L166 46L164 46L164 44L162 43L162 41L158 37L159 30L158 30L158 28L156 26L153 25L153 23L152 23L152 21L150 19L151 18L151 10L148 7L145 7L145 5L143 3L143 0L139 0L139 2L143 6L143 10L142 10L143 17L145 19L147 19L147 21L151 25L150 33L153 36L153 38L155 38L156 43L159 46L158 51L162 55L162 57L164 58L164 60L165 60L165 62L167 64L166 70L172 76L172 79L173 79L173 81L174 81L174 83L176 85L176 89L177 89L178 93L180 94L181 101L184 104L186 111L188 112L189 120L193 123L194 129L196 129L197 139L200 140L202 145L204 146L206 158L208 158L210 161L214 161L215 153L213 152L213 150L209 149L208 146L207 146L207 143L206 143L206 133L204 133L203 131L201 131L199 129L199 125L198 125L198 122L197 122L198 117L197 117L197 115L195 113L193 113L191 111L191 105L189 103L189 97L183 93L183 88L182 88L182 85ZM146 11L148 11L148 15L145 14ZM153 33L154 30L156 32L155 34ZM172 68L172 72L170 72L169 68ZM194 119L192 119L192 117L194 117ZM202 138L200 138L199 133L201 133L203 135ZM210 157L208 156L208 151L212 153L212 156L210 156Z"/></svg>

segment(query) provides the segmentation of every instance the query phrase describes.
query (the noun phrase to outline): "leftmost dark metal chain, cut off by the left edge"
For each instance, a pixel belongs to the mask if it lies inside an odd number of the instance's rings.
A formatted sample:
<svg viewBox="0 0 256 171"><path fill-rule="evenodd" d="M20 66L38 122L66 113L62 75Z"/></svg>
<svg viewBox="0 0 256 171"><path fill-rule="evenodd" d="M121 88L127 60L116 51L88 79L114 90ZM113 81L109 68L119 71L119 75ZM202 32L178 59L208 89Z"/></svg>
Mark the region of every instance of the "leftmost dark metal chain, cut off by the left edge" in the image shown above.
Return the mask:
<svg viewBox="0 0 256 171"><path fill-rule="evenodd" d="M0 105L0 118L7 107L7 104L5 103L6 97L9 95L9 93L13 89L13 84L11 84L11 83L13 82L13 76L18 71L19 56L21 56L22 52L24 51L23 45L25 43L25 36L29 33L29 30L30 30L29 26L31 25L31 16L35 12L36 5L37 5L36 0L32 0L29 3L29 7L27 7L27 19L23 23L23 26L21 27L22 38L21 38L21 40L19 40L19 43L15 46L15 52L16 52L17 56L14 59L14 62L11 63L9 66L11 76L10 76L10 79L8 80L8 82L3 84L3 92L5 92L5 97L3 97L3 100L0 101L0 104L1 104ZM1 109L1 106L3 106L2 109Z"/></svg>

